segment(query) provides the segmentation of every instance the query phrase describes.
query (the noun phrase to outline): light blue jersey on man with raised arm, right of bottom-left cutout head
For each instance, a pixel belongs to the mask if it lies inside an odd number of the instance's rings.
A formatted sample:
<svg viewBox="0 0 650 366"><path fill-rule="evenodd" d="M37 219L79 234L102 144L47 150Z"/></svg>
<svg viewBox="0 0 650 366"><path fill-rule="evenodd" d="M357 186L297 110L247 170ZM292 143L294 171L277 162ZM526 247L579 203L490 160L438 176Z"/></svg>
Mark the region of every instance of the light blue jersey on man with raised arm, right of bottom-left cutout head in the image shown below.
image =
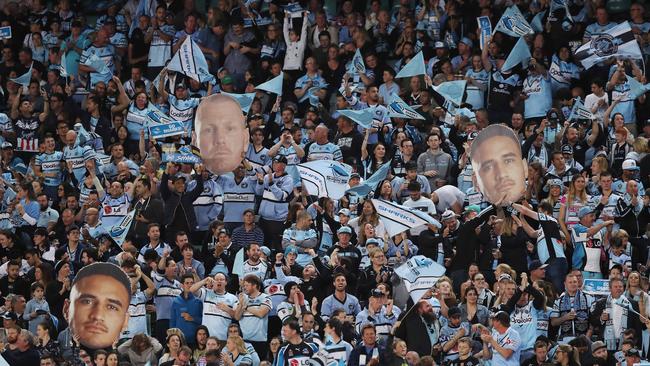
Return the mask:
<svg viewBox="0 0 650 366"><path fill-rule="evenodd" d="M208 328L211 336L217 337L220 341L228 339L228 326L232 323L233 318L221 310L217 304L225 304L235 309L239 304L237 296L224 292L218 294L213 290L202 288L198 296L203 301L203 322Z"/></svg>

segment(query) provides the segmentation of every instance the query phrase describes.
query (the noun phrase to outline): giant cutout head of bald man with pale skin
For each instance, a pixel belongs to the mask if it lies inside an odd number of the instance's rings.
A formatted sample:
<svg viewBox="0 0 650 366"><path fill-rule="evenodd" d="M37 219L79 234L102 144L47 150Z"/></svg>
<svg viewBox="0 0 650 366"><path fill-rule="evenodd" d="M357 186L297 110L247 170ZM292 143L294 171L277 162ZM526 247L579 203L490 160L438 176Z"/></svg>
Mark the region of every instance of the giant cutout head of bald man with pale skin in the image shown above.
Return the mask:
<svg viewBox="0 0 650 366"><path fill-rule="evenodd" d="M203 164L213 174L235 170L248 149L248 128L237 100L214 94L196 111L196 137Z"/></svg>

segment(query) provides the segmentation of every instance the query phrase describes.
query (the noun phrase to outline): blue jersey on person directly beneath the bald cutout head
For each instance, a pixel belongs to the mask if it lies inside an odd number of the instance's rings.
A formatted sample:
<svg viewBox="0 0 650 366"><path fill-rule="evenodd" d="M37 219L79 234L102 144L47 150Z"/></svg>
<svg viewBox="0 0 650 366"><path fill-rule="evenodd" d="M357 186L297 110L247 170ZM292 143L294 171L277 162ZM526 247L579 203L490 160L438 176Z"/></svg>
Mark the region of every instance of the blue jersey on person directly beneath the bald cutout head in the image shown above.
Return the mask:
<svg viewBox="0 0 650 366"><path fill-rule="evenodd" d="M234 177L220 175L216 183L223 192L223 221L241 222L244 211L255 208L255 195L261 193L256 177L246 177L237 182Z"/></svg>

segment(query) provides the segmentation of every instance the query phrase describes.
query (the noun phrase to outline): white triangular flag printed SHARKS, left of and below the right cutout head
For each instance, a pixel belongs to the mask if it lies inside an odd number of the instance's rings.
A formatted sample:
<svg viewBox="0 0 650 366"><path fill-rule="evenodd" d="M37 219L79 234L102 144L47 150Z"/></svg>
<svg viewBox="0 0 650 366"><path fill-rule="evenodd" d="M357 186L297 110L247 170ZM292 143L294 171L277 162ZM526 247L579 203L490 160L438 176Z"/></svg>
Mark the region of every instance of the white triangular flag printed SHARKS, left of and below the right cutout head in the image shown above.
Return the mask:
<svg viewBox="0 0 650 366"><path fill-rule="evenodd" d="M436 219L427 213L410 207L375 198L372 199L372 204L375 206L379 219L384 223L386 231L391 237L427 224L442 227Z"/></svg>

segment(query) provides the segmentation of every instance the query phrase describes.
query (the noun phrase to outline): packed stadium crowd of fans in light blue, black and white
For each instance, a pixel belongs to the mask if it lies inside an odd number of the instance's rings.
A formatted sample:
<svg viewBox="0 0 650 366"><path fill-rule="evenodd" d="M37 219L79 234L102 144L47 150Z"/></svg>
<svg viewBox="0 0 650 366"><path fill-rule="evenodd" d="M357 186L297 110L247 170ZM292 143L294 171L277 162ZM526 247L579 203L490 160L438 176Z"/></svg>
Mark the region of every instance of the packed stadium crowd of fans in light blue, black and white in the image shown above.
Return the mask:
<svg viewBox="0 0 650 366"><path fill-rule="evenodd" d="M650 88L632 92L650 54L643 0L0 4L9 365L632 366L650 354ZM510 6L541 28L524 37L528 66L505 70L517 38L483 37L476 19L495 27ZM574 59L592 41L620 45L609 30L624 22L641 58ZM166 68L188 37L214 82ZM420 52L425 74L396 78ZM281 94L256 90L279 75ZM452 106L438 91L458 80ZM255 95L245 157L214 175L177 158L196 145L201 99L221 92ZM391 117L394 95L421 118ZM368 108L369 128L339 112ZM153 138L152 111L185 133ZM475 188L470 159L493 124L526 161L524 196L506 207ZM351 188L390 169L333 200L296 179L316 160L351 166ZM391 237L371 198L439 225ZM394 270L414 256L446 274L397 301ZM74 276L94 262L131 280L109 349L80 346L68 324Z"/></svg>

